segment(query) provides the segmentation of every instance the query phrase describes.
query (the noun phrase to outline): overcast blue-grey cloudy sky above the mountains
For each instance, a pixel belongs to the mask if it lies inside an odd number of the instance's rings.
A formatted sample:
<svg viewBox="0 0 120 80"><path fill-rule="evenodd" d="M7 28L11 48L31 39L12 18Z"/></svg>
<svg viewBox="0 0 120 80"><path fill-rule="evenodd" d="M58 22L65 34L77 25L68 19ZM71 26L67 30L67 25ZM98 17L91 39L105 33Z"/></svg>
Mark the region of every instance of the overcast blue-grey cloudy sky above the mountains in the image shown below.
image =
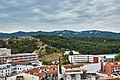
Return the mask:
<svg viewBox="0 0 120 80"><path fill-rule="evenodd" d="M120 0L0 0L0 32L120 32Z"/></svg>

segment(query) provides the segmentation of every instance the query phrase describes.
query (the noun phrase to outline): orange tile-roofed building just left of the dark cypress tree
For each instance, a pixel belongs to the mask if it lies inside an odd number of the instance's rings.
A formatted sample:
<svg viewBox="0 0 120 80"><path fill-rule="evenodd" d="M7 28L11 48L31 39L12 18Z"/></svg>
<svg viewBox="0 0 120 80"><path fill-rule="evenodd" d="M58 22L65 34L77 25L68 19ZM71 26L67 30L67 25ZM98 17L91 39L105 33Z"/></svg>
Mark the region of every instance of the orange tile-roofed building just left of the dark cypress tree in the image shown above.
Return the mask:
<svg viewBox="0 0 120 80"><path fill-rule="evenodd" d="M57 65L33 68L26 73L38 76L39 80L58 80Z"/></svg>

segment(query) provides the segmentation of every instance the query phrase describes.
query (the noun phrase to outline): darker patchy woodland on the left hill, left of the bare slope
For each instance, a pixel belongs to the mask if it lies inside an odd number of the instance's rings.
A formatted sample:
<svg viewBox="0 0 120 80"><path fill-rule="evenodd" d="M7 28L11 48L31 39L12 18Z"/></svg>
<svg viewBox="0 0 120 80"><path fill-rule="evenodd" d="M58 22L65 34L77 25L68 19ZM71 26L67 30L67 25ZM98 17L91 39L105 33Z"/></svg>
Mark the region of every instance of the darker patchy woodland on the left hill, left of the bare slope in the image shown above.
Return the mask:
<svg viewBox="0 0 120 80"><path fill-rule="evenodd" d="M4 41L0 41L0 47L11 49L12 54L31 53L37 48L36 42L37 40L35 39L13 38L9 40L8 44Z"/></svg>

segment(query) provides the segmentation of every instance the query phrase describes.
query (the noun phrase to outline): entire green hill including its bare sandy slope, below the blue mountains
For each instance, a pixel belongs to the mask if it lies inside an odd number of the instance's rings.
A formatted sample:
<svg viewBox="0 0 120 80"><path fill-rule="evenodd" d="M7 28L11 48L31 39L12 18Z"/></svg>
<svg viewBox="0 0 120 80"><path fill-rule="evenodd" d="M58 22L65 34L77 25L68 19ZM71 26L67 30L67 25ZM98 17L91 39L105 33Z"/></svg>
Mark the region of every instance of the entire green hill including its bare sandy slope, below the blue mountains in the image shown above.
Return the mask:
<svg viewBox="0 0 120 80"><path fill-rule="evenodd" d="M32 37L10 38L7 44L0 40L0 47L12 49L12 54L36 52L44 61L58 60L59 56L62 56L63 63L67 63L68 57L63 55L66 50L75 50L80 54L117 54L120 52L120 40L40 34Z"/></svg>

